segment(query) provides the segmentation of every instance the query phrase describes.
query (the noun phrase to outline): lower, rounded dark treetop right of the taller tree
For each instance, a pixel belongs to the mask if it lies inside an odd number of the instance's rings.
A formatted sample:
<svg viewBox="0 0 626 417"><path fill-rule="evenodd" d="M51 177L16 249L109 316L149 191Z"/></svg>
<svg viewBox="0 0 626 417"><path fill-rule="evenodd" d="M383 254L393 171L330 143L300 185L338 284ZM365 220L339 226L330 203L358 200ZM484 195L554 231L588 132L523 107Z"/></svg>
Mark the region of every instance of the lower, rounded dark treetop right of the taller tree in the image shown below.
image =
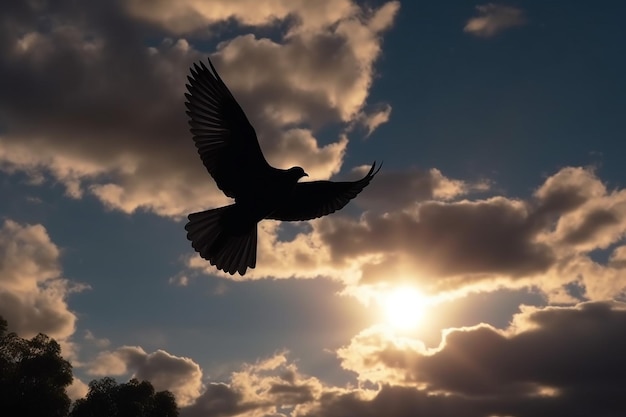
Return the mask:
<svg viewBox="0 0 626 417"><path fill-rule="evenodd" d="M131 379L117 384L105 377L89 383L85 398L74 403L70 417L177 417L178 407L169 391L155 392L148 381Z"/></svg>

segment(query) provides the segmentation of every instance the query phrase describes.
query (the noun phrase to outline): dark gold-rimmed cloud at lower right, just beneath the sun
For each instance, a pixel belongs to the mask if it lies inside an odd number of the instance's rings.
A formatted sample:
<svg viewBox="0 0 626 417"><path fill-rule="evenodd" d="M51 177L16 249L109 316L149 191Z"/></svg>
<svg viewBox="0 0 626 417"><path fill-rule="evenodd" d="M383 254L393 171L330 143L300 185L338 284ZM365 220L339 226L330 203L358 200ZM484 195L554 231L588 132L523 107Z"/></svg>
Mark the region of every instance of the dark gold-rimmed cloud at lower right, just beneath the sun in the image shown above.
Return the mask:
<svg viewBox="0 0 626 417"><path fill-rule="evenodd" d="M626 304L619 302L522 307L508 329L487 324L447 329L435 349L374 331L355 337L339 355L359 375L391 368L401 373L397 383L422 384L435 392L540 395L546 387L565 392L619 379L623 360L616 354L626 337L616 329L625 323Z"/></svg>

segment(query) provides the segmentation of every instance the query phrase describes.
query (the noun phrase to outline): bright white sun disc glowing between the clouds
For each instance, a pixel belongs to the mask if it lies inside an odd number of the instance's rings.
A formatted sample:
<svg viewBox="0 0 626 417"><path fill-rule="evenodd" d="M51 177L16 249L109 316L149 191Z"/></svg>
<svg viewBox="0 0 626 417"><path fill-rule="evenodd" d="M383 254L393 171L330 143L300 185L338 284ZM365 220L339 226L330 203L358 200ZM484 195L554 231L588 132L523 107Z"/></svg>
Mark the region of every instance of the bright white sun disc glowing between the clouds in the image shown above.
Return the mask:
<svg viewBox="0 0 626 417"><path fill-rule="evenodd" d="M413 287L398 287L383 296L382 307L391 326L410 330L423 319L425 300Z"/></svg>

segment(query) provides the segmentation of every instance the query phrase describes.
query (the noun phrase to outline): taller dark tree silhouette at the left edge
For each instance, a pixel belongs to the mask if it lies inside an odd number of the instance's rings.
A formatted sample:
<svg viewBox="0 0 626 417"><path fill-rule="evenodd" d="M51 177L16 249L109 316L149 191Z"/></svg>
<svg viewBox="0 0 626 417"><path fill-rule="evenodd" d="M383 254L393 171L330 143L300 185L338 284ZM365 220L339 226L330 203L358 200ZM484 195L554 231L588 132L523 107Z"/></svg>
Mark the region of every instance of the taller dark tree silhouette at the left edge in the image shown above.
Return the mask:
<svg viewBox="0 0 626 417"><path fill-rule="evenodd" d="M27 340L7 328L0 317L0 414L65 417L72 365L61 357L61 347L45 334Z"/></svg>

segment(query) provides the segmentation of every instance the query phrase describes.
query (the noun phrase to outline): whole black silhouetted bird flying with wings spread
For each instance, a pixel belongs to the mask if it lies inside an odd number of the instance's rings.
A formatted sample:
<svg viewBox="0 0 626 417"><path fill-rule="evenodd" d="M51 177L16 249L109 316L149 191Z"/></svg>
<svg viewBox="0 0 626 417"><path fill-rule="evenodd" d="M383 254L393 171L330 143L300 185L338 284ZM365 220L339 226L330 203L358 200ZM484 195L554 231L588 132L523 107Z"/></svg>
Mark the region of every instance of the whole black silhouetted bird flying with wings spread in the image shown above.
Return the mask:
<svg viewBox="0 0 626 417"><path fill-rule="evenodd" d="M352 182L298 182L301 167L278 169L263 156L254 128L218 75L195 63L187 77L187 115L202 163L234 204L188 216L192 247L211 265L234 275L256 266L257 224L263 219L302 221L343 208L365 188L376 162Z"/></svg>

